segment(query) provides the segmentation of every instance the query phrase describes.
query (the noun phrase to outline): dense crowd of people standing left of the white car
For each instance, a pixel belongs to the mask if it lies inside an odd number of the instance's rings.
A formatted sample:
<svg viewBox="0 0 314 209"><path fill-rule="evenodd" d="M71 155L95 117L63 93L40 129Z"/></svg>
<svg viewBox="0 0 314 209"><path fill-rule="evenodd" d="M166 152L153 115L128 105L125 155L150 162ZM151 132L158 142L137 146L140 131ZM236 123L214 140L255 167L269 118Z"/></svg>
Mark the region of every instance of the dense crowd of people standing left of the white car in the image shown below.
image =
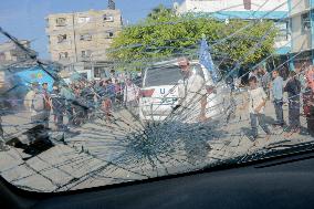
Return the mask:
<svg viewBox="0 0 314 209"><path fill-rule="evenodd" d="M100 81L78 79L69 85L55 82L52 91L48 91L48 83L32 83L24 106L31 112L32 123L49 128L53 119L56 129L65 130L86 123L91 117L111 121L113 112L121 106L134 111L138 94L139 87L132 77L122 79L112 71L109 77Z"/></svg>

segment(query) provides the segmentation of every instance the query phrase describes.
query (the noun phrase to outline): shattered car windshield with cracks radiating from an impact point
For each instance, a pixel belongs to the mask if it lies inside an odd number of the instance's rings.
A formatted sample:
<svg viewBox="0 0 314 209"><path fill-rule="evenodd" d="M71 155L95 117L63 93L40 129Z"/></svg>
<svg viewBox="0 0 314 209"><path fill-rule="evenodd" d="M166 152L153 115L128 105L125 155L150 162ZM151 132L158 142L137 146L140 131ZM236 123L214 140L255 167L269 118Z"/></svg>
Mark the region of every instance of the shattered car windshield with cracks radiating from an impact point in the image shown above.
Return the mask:
<svg viewBox="0 0 314 209"><path fill-rule="evenodd" d="M313 149L312 8L1 2L0 175L59 192Z"/></svg>

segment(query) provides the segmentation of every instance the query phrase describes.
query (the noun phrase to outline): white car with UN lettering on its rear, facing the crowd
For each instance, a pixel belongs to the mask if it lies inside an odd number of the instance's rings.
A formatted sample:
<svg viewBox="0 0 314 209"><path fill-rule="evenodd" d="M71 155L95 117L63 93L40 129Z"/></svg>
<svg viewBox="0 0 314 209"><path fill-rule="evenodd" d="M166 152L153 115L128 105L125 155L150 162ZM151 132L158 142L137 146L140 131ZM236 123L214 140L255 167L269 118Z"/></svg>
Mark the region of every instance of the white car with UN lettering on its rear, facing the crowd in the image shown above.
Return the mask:
<svg viewBox="0 0 314 209"><path fill-rule="evenodd" d="M210 72L199 64L199 61L191 61L190 67L193 74L203 79L203 87L208 91L206 116L222 118L229 115L232 111L231 88L223 81L213 85ZM156 63L143 73L139 97L142 122L176 119L182 123L197 123L200 105L192 105L190 109L180 108L187 90L177 61Z"/></svg>

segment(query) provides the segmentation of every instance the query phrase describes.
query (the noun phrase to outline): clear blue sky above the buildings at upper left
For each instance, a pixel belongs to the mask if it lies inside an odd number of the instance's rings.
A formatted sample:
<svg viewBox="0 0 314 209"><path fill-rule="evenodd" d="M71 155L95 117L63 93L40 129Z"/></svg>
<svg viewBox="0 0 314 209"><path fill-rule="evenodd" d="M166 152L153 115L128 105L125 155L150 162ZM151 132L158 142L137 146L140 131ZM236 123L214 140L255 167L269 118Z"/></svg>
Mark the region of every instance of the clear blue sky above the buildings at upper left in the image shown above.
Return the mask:
<svg viewBox="0 0 314 209"><path fill-rule="evenodd" d="M170 7L174 0L116 0L116 8L123 12L123 19L137 22L156 6ZM40 58L49 59L44 18L50 13L75 12L90 9L106 9L107 0L8 0L1 2L0 25L18 39L32 41L32 49ZM0 42L3 42L0 36Z"/></svg>

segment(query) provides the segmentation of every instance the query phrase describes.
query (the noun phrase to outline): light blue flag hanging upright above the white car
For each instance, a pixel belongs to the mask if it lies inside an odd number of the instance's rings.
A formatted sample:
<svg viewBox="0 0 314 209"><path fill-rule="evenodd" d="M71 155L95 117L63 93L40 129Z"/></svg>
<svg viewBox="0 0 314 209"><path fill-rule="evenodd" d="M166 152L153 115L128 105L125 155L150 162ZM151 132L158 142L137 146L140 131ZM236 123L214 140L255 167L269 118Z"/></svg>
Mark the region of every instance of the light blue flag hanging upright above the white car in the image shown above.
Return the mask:
<svg viewBox="0 0 314 209"><path fill-rule="evenodd" d="M217 69L214 67L209 50L210 48L206 39L202 39L200 43L199 63L202 64L210 72L213 83L217 83L218 72Z"/></svg>

